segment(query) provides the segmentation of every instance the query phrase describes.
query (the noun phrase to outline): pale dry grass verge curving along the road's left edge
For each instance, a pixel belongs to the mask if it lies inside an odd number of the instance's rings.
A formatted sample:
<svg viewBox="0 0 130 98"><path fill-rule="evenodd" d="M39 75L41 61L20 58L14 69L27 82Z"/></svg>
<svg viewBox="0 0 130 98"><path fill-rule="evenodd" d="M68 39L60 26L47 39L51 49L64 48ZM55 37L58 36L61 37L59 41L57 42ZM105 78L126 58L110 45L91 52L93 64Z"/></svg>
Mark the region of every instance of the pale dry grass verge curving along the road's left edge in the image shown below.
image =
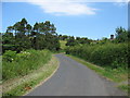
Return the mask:
<svg viewBox="0 0 130 98"><path fill-rule="evenodd" d="M51 77L58 68L58 61L52 57L49 63L32 73L3 84L3 97L22 96L31 91ZM10 83L10 84L9 84Z"/></svg>

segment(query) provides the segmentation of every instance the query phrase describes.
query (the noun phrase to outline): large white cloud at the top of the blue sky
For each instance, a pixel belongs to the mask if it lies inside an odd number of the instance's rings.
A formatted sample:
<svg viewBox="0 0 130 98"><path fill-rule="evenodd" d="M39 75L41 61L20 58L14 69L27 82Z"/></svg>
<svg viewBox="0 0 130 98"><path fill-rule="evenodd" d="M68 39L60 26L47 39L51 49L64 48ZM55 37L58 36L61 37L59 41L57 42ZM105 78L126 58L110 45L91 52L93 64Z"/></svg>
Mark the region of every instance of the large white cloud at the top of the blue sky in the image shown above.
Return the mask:
<svg viewBox="0 0 130 98"><path fill-rule="evenodd" d="M70 0L27 0L28 2L39 5L46 13L55 15L81 15L95 14L96 9L90 8L79 0L72 2ZM81 1L81 0L80 0Z"/></svg>

